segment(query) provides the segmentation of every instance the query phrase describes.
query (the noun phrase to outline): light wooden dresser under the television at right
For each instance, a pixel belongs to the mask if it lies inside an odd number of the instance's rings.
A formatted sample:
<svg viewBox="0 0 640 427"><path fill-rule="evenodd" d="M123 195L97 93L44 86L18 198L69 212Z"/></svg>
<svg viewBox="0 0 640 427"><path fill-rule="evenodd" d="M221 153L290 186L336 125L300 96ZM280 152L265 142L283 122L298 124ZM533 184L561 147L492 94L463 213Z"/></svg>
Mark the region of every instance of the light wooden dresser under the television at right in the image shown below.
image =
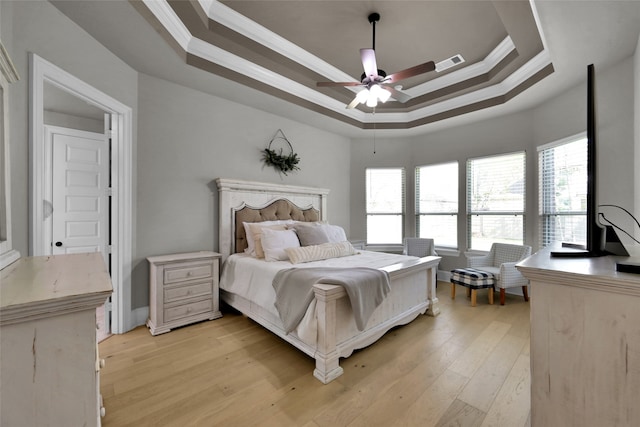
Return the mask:
<svg viewBox="0 0 640 427"><path fill-rule="evenodd" d="M531 281L531 426L640 426L640 275L548 250L518 269Z"/></svg>

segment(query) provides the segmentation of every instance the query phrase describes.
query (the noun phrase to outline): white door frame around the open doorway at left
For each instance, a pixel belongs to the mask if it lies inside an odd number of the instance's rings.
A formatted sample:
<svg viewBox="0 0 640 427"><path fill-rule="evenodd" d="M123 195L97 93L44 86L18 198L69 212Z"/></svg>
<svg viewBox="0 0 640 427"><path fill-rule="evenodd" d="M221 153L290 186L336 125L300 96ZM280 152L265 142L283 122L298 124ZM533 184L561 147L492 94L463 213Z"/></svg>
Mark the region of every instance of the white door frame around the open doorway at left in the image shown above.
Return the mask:
<svg viewBox="0 0 640 427"><path fill-rule="evenodd" d="M132 270L132 158L133 111L109 95L88 85L40 56L29 53L29 162L31 177L30 255L46 255L44 231L45 195L45 137L44 137L44 83L52 84L77 98L110 113L111 135L111 296L113 333L132 329L131 270Z"/></svg>

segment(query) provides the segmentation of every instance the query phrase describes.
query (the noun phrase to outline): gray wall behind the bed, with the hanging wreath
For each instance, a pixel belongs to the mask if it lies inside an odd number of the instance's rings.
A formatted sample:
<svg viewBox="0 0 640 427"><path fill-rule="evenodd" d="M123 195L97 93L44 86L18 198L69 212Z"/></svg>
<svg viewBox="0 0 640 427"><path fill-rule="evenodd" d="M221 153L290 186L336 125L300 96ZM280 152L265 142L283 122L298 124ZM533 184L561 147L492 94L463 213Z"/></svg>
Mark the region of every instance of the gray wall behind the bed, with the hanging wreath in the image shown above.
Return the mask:
<svg viewBox="0 0 640 427"><path fill-rule="evenodd" d="M139 90L135 283L147 256L218 249L219 177L328 188L328 218L349 234L349 139L144 74ZM301 158L287 176L261 160L278 129Z"/></svg>

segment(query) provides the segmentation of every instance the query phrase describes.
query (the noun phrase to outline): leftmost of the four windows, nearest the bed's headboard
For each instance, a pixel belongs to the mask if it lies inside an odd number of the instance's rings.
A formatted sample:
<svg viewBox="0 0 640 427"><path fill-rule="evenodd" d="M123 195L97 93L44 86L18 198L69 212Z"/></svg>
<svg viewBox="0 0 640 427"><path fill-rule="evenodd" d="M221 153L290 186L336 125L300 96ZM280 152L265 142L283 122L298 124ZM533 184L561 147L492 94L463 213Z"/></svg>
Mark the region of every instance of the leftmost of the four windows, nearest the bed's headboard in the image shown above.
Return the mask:
<svg viewBox="0 0 640 427"><path fill-rule="evenodd" d="M367 169L367 244L402 244L404 169Z"/></svg>

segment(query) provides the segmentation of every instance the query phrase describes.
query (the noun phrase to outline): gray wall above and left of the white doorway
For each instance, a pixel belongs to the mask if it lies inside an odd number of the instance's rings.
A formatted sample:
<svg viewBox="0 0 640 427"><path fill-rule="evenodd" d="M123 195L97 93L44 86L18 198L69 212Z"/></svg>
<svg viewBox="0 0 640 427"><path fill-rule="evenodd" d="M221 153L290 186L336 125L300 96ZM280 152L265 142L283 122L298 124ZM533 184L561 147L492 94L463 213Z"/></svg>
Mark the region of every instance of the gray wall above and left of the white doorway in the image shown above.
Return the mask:
<svg viewBox="0 0 640 427"><path fill-rule="evenodd" d="M5 47L21 77L10 86L11 214L13 246L26 256L30 253L28 53L38 54L131 107L134 111L134 134L138 76L49 2L2 1L0 7L1 37L3 41L10 41ZM135 233L135 224L133 230Z"/></svg>

